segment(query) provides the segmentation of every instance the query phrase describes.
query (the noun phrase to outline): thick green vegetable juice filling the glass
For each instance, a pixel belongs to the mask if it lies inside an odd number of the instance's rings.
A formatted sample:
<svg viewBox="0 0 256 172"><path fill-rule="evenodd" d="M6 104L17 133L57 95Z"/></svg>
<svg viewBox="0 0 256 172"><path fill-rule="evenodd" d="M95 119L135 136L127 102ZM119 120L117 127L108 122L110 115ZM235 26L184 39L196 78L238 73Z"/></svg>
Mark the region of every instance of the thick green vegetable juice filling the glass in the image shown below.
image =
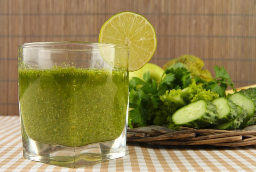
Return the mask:
<svg viewBox="0 0 256 172"><path fill-rule="evenodd" d="M126 125L123 69L20 68L18 78L22 122L35 141L83 146L114 140Z"/></svg>

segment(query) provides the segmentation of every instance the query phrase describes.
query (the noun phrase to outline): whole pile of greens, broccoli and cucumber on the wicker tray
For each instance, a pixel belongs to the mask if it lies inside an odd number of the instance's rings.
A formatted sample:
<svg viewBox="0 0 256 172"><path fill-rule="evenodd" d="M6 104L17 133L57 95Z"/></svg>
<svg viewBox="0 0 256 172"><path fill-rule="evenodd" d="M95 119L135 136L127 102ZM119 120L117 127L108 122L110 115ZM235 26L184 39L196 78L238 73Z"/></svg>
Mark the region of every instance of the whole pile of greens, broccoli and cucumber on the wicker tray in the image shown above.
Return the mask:
<svg viewBox="0 0 256 172"><path fill-rule="evenodd" d="M133 77L128 126L234 130L256 124L256 88L237 92L224 67L213 67L215 77L203 67L202 59L184 55L164 65L159 82L149 71ZM226 95L227 87L234 94Z"/></svg>

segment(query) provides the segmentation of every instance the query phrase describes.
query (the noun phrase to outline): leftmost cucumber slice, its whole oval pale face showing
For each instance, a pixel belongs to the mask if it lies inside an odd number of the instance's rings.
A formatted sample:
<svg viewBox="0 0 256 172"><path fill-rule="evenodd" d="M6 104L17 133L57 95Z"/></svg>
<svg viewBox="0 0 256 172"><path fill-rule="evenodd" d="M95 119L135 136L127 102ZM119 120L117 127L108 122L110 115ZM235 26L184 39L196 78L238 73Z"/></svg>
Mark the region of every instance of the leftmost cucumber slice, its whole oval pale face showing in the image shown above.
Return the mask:
<svg viewBox="0 0 256 172"><path fill-rule="evenodd" d="M218 119L216 106L199 100L178 109L172 116L175 125L199 129L213 124Z"/></svg>

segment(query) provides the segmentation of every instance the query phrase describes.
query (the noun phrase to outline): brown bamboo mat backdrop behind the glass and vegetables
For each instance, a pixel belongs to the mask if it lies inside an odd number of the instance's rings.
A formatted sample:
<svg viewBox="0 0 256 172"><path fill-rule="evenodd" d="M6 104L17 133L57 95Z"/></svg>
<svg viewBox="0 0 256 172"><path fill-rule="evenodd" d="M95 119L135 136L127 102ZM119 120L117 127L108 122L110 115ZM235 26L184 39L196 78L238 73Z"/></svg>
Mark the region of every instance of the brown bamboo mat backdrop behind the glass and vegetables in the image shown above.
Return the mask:
<svg viewBox="0 0 256 172"><path fill-rule="evenodd" d="M236 87L256 84L256 0L0 0L0 115L18 115L18 45L97 42L113 14L133 11L155 27L163 66L192 54L224 66Z"/></svg>

